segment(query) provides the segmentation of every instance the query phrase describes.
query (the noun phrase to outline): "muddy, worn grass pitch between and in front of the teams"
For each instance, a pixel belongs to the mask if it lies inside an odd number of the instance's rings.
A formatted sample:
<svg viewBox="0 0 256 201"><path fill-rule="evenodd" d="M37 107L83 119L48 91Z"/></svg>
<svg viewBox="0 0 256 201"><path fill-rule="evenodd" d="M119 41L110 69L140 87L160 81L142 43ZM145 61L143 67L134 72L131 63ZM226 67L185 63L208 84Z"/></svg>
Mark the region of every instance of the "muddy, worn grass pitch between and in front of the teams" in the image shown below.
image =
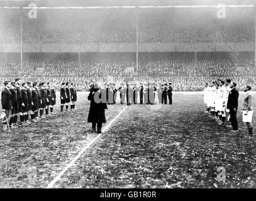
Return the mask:
<svg viewBox="0 0 256 201"><path fill-rule="evenodd" d="M54 116L13 133L0 129L1 188L47 187L96 138L87 95L78 95L76 111L60 114L58 100ZM255 188L256 137L248 136L241 113L238 136L204 113L201 94L173 99L172 106L108 106L104 126L125 110L53 188ZM218 167L225 182L216 180Z"/></svg>

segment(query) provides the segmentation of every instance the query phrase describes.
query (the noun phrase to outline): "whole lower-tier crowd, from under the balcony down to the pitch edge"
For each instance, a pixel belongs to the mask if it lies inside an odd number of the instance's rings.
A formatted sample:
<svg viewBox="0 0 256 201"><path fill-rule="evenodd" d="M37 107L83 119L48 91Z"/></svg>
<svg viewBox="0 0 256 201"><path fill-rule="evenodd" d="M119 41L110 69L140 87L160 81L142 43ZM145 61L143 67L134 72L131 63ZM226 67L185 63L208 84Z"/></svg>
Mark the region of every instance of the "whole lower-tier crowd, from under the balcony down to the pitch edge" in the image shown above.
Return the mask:
<svg viewBox="0 0 256 201"><path fill-rule="evenodd" d="M246 56L247 55L247 56ZM255 89L256 69L253 54L233 58L230 53L140 53L138 70L133 54L91 54L81 62L60 55L53 58L24 60L0 59L0 77L52 82L59 87L62 81L76 82L78 90L89 89L92 81L121 83L125 77L138 82L172 82L175 91L198 91L216 77L229 77L238 83L252 85ZM42 71L39 71L41 68Z"/></svg>

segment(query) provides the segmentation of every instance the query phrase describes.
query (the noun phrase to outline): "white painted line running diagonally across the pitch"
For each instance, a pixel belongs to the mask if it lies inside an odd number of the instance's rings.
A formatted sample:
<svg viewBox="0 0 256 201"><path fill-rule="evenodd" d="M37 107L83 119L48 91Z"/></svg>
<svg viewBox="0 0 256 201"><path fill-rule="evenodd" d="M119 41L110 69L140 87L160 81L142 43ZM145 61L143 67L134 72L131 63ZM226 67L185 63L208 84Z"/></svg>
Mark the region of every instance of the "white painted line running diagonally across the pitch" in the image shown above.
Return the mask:
<svg viewBox="0 0 256 201"><path fill-rule="evenodd" d="M107 131L109 126L111 126L111 124L123 113L123 111L125 111L127 106L125 106L125 108L118 114L118 116L114 117L114 119L108 124L108 126L106 126L104 129L103 129L103 133L104 131ZM102 133L98 134L96 138L92 139L92 141L87 144L86 147L84 147L77 156L75 156L75 158L69 163L69 165L67 165L64 170L62 170L58 175L57 177L55 177L52 182L49 183L49 185L47 186L47 188L52 188L53 185L55 185L55 183L60 179L60 177L62 177L62 175L64 175L64 173L69 170L69 168L75 163L75 161L77 161L77 159L84 153L84 151L86 151L86 149L88 149L91 144L93 144L96 139L98 139L100 136L101 136Z"/></svg>

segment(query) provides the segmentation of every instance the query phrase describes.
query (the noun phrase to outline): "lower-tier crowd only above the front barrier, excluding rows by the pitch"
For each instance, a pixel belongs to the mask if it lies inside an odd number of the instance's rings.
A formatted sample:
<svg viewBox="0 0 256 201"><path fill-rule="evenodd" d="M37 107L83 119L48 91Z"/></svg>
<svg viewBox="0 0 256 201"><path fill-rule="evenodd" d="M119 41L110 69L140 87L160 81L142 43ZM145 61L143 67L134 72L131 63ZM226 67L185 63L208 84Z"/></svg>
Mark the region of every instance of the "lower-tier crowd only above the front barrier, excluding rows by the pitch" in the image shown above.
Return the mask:
<svg viewBox="0 0 256 201"><path fill-rule="evenodd" d="M234 59L227 54L140 53L138 70L136 59L130 56L94 55L80 62L72 58L0 60L0 77L253 77L254 61ZM36 70L41 68L42 71Z"/></svg>

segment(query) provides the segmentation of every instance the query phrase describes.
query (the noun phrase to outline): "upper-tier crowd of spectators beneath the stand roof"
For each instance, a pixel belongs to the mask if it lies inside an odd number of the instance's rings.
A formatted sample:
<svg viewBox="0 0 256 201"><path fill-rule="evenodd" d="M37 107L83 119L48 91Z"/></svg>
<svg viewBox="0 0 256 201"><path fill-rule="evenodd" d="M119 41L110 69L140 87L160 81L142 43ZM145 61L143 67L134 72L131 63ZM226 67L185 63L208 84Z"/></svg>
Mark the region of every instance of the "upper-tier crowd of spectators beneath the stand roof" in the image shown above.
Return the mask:
<svg viewBox="0 0 256 201"><path fill-rule="evenodd" d="M164 23L138 26L139 43L172 42L245 42L255 41L254 25L174 27ZM19 43L20 30L0 26L0 43ZM136 43L136 26L118 24L28 24L23 30L24 43Z"/></svg>

